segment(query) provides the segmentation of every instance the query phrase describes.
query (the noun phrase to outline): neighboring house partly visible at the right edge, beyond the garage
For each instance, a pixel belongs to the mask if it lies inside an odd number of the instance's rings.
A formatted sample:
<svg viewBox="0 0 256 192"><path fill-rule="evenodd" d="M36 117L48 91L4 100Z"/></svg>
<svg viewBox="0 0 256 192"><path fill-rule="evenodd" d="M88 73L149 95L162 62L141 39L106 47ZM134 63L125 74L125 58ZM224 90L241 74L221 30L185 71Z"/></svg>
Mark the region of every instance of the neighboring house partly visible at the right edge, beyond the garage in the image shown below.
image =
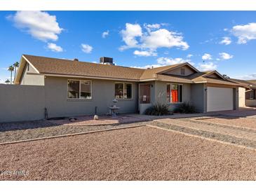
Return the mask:
<svg viewBox="0 0 256 192"><path fill-rule="evenodd" d="M239 107L256 107L256 81L235 78L230 80L242 86L238 89Z"/></svg>

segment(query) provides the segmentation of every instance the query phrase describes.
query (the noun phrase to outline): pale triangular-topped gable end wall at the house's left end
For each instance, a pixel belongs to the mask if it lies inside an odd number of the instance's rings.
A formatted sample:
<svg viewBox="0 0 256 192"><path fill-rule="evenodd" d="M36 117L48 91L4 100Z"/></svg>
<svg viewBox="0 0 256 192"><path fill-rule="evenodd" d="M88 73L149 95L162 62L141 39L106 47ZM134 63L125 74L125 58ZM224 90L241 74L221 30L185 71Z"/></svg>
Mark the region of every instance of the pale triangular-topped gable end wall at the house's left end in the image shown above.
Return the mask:
<svg viewBox="0 0 256 192"><path fill-rule="evenodd" d="M20 85L44 85L44 76L36 74L36 70L27 63L20 79Z"/></svg>

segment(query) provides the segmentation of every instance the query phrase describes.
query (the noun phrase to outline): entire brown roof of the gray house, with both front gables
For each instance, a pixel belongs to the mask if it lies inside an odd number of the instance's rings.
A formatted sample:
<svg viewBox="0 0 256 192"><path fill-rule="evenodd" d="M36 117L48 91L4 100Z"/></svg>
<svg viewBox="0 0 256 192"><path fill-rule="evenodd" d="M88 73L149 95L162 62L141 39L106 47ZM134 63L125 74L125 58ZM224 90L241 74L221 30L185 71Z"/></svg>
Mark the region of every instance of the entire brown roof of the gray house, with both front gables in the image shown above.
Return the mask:
<svg viewBox="0 0 256 192"><path fill-rule="evenodd" d="M121 67L91 62L79 62L34 55L22 55L15 83L20 82L22 71L26 62L32 65L37 74L46 76L74 76L86 78L115 79L123 81L172 81L179 83L220 83L226 85L240 85L225 79L217 71L200 72L188 62L173 64L152 69L137 69L133 67ZM165 74L170 70L187 66L194 74L190 76L177 76ZM220 78L209 78L215 74Z"/></svg>

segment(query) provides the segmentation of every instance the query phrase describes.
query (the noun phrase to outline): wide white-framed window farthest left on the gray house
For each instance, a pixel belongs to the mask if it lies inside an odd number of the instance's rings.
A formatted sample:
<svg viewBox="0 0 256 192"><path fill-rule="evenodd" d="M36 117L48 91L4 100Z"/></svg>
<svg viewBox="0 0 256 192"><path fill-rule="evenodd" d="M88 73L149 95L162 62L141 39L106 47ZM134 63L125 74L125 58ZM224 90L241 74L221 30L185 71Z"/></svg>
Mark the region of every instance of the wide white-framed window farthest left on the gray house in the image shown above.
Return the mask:
<svg viewBox="0 0 256 192"><path fill-rule="evenodd" d="M67 98L90 100L92 98L92 82L84 80L67 80Z"/></svg>

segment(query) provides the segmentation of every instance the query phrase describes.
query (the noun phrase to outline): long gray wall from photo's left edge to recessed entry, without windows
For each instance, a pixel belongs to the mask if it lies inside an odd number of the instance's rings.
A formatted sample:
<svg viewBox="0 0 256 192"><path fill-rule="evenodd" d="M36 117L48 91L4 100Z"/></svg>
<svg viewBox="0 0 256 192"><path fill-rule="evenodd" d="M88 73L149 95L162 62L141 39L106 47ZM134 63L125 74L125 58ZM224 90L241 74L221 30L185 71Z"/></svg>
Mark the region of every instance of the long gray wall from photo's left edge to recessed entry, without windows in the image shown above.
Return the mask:
<svg viewBox="0 0 256 192"><path fill-rule="evenodd" d="M45 78L45 85L0 85L0 122L32 121L44 118L44 108L48 110L48 117L79 116L107 114L109 106L113 105L114 85L117 81L92 81L91 100L67 99L67 80L69 78ZM72 78L81 79L81 78ZM118 81L118 83L132 83L132 99L119 100L116 104L121 107L120 114L138 111L137 90L134 82Z"/></svg>

